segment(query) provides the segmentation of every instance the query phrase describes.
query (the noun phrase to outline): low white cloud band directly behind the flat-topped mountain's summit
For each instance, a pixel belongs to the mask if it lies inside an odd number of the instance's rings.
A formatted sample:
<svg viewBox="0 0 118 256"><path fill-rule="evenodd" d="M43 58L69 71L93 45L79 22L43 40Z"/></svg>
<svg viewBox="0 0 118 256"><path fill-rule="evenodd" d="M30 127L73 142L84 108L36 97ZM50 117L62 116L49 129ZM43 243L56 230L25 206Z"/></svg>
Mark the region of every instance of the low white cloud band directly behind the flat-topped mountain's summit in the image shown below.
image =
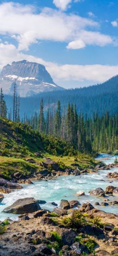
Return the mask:
<svg viewBox="0 0 118 256"><path fill-rule="evenodd" d="M89 84L89 81L92 81L93 84L101 83L118 74L118 65L58 65L57 63L47 62L32 55L23 54L19 52L15 45L0 43L0 69L7 63L11 64L12 61L23 59L45 65L58 85L62 85L62 82L64 85L64 81L65 83L69 81L69 87L71 86L71 81L78 81L78 83L84 81L86 84Z"/></svg>

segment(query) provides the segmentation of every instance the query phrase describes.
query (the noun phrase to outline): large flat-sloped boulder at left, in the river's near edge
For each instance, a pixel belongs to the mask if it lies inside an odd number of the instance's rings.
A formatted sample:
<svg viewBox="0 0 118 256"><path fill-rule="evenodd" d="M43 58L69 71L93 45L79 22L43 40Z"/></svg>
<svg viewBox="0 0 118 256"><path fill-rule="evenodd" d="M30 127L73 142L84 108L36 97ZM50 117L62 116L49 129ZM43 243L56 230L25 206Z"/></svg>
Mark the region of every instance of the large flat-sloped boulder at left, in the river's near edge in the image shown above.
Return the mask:
<svg viewBox="0 0 118 256"><path fill-rule="evenodd" d="M27 197L23 199L18 199L11 206L6 207L3 210L3 212L14 213L14 214L24 214L24 213L32 213L38 210L41 210L39 206L39 201L34 199L34 197Z"/></svg>

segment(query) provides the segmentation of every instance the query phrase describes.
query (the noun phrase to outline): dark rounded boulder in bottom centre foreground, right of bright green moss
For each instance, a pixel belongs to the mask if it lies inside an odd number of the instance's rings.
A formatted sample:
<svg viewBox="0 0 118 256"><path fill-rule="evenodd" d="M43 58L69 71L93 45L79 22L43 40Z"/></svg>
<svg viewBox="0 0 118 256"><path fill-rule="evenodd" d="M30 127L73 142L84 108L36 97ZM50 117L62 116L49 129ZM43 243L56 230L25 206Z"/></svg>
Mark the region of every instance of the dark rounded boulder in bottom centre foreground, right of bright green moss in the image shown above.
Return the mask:
<svg viewBox="0 0 118 256"><path fill-rule="evenodd" d="M71 246L74 243L76 233L73 229L62 228L59 233L61 235L63 245Z"/></svg>

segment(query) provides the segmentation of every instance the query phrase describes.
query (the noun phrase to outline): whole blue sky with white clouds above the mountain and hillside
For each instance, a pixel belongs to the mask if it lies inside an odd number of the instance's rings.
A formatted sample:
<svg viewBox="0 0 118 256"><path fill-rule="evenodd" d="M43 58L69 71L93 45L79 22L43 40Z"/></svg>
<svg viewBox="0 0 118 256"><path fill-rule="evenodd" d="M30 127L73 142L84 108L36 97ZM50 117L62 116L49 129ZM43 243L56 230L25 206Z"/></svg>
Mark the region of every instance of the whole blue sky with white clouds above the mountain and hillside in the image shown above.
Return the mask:
<svg viewBox="0 0 118 256"><path fill-rule="evenodd" d="M0 0L0 70L45 65L64 88L118 74L118 0Z"/></svg>

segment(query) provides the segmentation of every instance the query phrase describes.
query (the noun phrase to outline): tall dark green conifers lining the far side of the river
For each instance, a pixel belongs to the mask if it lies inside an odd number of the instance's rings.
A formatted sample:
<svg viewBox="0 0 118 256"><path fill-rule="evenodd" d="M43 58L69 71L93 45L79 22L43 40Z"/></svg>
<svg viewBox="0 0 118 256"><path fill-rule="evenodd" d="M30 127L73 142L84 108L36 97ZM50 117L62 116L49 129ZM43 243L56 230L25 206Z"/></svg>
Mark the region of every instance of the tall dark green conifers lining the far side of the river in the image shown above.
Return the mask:
<svg viewBox="0 0 118 256"><path fill-rule="evenodd" d="M39 113L39 114L38 114ZM21 119L22 123L31 125L36 131L46 135L61 138L74 146L75 149L84 153L113 152L118 150L118 113L109 115L108 111L99 116L93 113L93 117L88 118L87 114L78 114L76 104L68 104L67 109L53 103L47 106L45 115L44 101L41 99L39 112L35 115ZM7 108L4 95L0 92L0 117L7 116ZM10 120L20 121L20 97L14 85L13 106L8 113Z"/></svg>

